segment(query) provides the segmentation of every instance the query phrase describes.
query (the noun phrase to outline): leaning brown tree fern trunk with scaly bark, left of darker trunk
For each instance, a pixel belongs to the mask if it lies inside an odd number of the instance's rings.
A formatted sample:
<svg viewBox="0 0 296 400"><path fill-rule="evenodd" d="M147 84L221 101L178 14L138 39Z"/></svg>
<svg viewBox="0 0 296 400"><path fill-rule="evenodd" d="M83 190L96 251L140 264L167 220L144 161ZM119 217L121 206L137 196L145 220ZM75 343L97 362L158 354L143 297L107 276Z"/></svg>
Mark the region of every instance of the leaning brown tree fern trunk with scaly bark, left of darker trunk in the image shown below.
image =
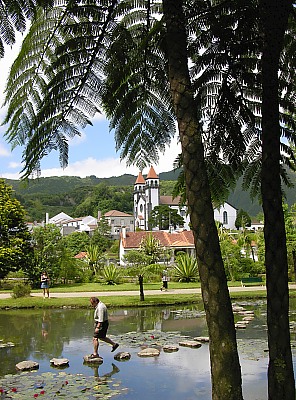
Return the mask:
<svg viewBox="0 0 296 400"><path fill-rule="evenodd" d="M169 81L182 144L187 202L195 238L209 337L213 400L242 399L232 306L188 71L182 0L163 0Z"/></svg>

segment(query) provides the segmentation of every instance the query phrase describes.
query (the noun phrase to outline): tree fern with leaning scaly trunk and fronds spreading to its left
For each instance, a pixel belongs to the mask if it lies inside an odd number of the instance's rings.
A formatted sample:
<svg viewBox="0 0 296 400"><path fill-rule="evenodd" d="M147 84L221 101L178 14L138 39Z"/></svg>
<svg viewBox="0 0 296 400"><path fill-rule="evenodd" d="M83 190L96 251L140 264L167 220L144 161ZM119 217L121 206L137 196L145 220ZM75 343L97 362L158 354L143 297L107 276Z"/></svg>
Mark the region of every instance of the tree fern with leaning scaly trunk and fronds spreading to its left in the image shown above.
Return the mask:
<svg viewBox="0 0 296 400"><path fill-rule="evenodd" d="M134 162L140 168L144 164L157 161L159 149L162 151L164 145L169 143L175 133L176 117L182 145L188 207L196 239L199 273L209 327L213 399L240 400L242 398L241 371L232 306L213 216L202 131L193 94L194 88L188 71L187 33L190 29L187 29L185 7L183 8L185 2L163 0L162 5L164 18L160 20L154 18L153 13L161 12L161 2L155 2L153 6L149 3L147 9L139 12L137 4L128 1L126 7L130 11L126 13L126 18L122 18L124 16L121 15L121 24L114 23L117 12L116 1L112 1L108 8L100 4L102 7L97 9L99 12L95 15L93 6L83 5L82 19L80 19L82 9L78 4L72 3L69 4L69 10L66 10L69 12L66 14L63 7L56 8L55 17L52 19L48 18L48 15L44 18L40 14L38 24L32 25L24 41L22 53L13 66L10 79L12 82L14 73L25 62L25 75L27 74L28 78L25 78L25 81L28 85L32 82L27 66L36 66L36 59L29 60L25 48L30 47L32 43L37 45L34 38L45 38L42 45L46 49L47 62L54 67L50 69L50 76L40 73L34 77L34 86L38 87L38 93L35 92L33 86L29 91L26 88L26 92L36 93L34 101L38 103L35 108L38 109L37 118L35 119L31 102L21 101L22 104L11 102L6 121L19 110L22 115L30 116L26 121L19 121L17 130L14 130L12 124L7 134L11 141L25 146L25 175L39 167L39 161L45 149L50 150L54 147L59 148L62 165L66 166L68 152L66 135L75 135L76 122L81 123L82 126L87 124L88 113L92 117L97 111L97 104L87 96L81 96L81 93L88 92L89 88L100 87L101 81L97 76L97 71L105 68L103 53L107 43L112 46L108 54L110 63L107 68L109 70L105 72L108 75L113 70L111 80L114 79L115 84L110 87L110 80L105 86L107 97L109 97L108 104L106 99L104 101L105 111L112 117L111 128L118 128L116 142L117 147L123 149L121 156L126 157L128 163ZM89 22L85 24L85 20ZM64 44L61 43L65 38L64 24L61 21L65 21L67 31L75 32L75 39L71 37L70 41ZM126 29L124 24L130 24L132 21L135 24ZM152 41L148 42L147 32L150 32L150 29L155 32L155 35L149 35ZM122 32L126 38L125 42L109 41L111 35L104 35L106 31L108 33L112 31L112 35ZM50 35L46 35L46 32L50 32ZM52 32L55 32L54 42L50 41ZM77 43L84 43L86 38L88 44L82 45L81 48L87 49L84 52L83 62L84 67L88 65L88 68L84 69L88 73L82 77L81 51L77 52L76 49ZM60 44L62 44L59 49L60 58L57 59L55 50ZM74 47L73 44L75 44ZM72 51L72 49L75 50ZM43 51L35 53L44 54ZM117 60L114 60L114 57L117 57ZM128 57L133 60L132 68ZM77 62L74 62L76 58ZM118 69L112 66L115 61L117 61ZM42 69L43 63L38 65ZM135 65L143 65L143 68L139 70L134 68ZM73 73L75 66L79 68L79 71ZM128 72L124 70L125 67ZM134 74L128 79L131 71ZM125 75L124 78L123 75ZM49 87L47 87L45 76L50 80ZM68 80L69 76L71 76L70 80ZM127 90L116 88L116 84L120 82L127 85ZM61 83L63 88L60 87ZM20 88L20 80L14 79L13 84L13 89L12 85L9 85L7 98L14 97L15 88ZM168 90L169 85L171 92ZM55 98L54 93L62 92L63 96ZM94 101L99 99L98 93L92 97ZM112 93L116 93L117 98L111 98L109 95ZM126 102L119 96L125 93ZM30 110L27 107L29 105ZM62 124L59 118L52 118L52 110L56 111L55 115L63 116ZM123 115L125 118L122 118ZM75 122L72 121L74 116ZM144 116L146 116L145 119ZM117 127L117 122L122 125ZM216 176L220 176L219 173ZM204 257L205 254L206 257ZM221 342L225 344L223 347L221 347ZM231 374L228 373L229 370L232 371Z"/></svg>

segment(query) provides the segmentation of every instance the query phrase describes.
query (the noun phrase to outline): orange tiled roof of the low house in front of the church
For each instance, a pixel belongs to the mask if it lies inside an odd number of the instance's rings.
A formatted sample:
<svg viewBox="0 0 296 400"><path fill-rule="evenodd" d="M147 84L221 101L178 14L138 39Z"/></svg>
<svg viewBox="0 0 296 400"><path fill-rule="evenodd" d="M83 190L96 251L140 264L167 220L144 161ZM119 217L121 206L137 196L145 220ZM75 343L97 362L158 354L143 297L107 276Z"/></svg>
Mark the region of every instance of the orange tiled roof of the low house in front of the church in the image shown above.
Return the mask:
<svg viewBox="0 0 296 400"><path fill-rule="evenodd" d="M169 233L164 231L139 231L127 232L126 238L121 235L122 245L126 249L137 249L140 247L142 239L151 234L159 240L164 247L193 247L194 238L192 231L183 231L179 233Z"/></svg>

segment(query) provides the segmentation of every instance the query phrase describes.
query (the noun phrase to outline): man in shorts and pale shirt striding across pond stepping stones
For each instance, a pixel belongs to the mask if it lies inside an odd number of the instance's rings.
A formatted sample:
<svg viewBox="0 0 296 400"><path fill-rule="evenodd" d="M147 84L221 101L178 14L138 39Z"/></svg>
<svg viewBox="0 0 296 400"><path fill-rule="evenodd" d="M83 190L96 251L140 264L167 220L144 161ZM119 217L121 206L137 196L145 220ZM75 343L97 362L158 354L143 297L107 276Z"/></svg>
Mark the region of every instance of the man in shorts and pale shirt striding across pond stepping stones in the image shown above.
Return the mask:
<svg viewBox="0 0 296 400"><path fill-rule="evenodd" d="M107 337L107 331L109 327L108 322L108 311L106 305L100 301L97 297L90 298L90 304L95 309L94 320L95 320L95 331L93 335L93 346L94 352L90 358L98 358L99 356L99 339L103 342L109 343L112 346L111 352L115 351L119 346L118 343L113 342Z"/></svg>

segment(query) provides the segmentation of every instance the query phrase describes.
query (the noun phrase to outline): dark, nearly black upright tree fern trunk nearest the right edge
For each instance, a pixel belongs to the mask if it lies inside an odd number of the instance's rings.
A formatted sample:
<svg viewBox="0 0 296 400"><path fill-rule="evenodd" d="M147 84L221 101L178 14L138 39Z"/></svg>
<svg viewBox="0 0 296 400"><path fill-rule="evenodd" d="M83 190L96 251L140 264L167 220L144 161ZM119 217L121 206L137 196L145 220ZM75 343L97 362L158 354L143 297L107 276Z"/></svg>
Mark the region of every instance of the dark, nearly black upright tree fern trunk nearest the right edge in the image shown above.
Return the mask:
<svg viewBox="0 0 296 400"><path fill-rule="evenodd" d="M295 400L286 233L280 180L279 58L292 1L262 0L262 204L268 324L268 398Z"/></svg>

